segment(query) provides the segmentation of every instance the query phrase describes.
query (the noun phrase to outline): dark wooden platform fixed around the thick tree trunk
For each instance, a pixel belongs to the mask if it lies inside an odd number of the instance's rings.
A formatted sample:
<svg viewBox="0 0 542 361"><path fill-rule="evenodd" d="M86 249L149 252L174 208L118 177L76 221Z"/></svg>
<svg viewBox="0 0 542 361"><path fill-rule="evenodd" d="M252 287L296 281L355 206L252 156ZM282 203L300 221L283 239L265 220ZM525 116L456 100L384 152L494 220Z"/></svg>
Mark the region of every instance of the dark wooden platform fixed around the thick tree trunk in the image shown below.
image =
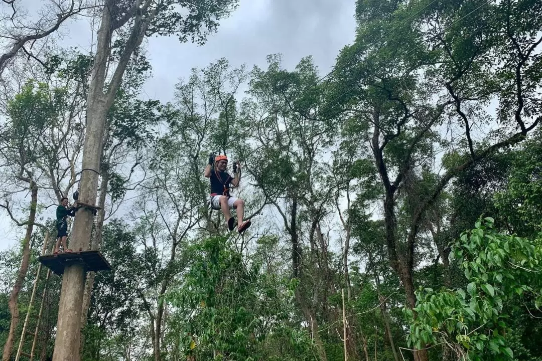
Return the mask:
<svg viewBox="0 0 542 361"><path fill-rule="evenodd" d="M111 270L111 265L109 265L109 262L100 251L78 251L42 255L38 257L38 260L55 274L64 273L64 267L74 264L82 264L85 266L85 271Z"/></svg>

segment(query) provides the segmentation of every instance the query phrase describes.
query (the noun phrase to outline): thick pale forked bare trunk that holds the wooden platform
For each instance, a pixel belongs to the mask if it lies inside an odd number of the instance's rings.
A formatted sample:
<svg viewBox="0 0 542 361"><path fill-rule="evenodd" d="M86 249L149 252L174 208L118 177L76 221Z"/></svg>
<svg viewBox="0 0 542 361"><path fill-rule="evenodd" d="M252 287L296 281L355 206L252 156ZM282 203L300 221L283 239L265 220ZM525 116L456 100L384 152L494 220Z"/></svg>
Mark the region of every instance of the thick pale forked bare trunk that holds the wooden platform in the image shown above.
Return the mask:
<svg viewBox="0 0 542 361"><path fill-rule="evenodd" d="M98 169L100 168L100 160L104 150L106 115L120 87L126 65L133 51L143 41L145 30L156 15L156 12L146 14L145 21L143 21L141 12L134 15L132 31L118 58L118 65L109 82L107 93L104 94L107 64L109 55L111 55L113 17L109 13L109 8L112 4L112 0L106 0L102 8L98 44L87 96L87 129L83 148L83 172L81 174L79 197L82 202L89 205L96 204ZM86 250L90 245L93 218L91 209L82 208L77 212L72 242L70 242L70 248L74 251ZM64 268L53 361L78 361L80 359L81 312L84 292L85 270L83 266L75 264Z"/></svg>

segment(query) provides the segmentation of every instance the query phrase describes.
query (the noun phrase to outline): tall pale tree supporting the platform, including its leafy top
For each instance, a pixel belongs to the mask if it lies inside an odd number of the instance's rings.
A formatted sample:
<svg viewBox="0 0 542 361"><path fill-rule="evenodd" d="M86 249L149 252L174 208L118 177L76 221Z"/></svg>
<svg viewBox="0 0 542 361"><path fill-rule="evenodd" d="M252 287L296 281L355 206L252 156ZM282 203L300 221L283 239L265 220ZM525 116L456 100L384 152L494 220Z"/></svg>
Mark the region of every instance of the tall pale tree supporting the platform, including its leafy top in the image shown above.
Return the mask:
<svg viewBox="0 0 542 361"><path fill-rule="evenodd" d="M101 9L98 42L87 97L81 201L90 205L96 204L106 116L120 88L128 61L143 42L143 38L151 34L176 34L180 41L191 38L192 41L203 44L207 34L218 27L218 20L233 11L235 4L235 0L197 1L193 4L175 0L137 0L134 3L105 1ZM179 6L185 11L179 11ZM112 54L114 36L118 36L118 44L121 44L118 54ZM111 60L116 66L112 63L109 66ZM111 71L109 80L108 70ZM92 225L92 210L80 210L74 221L73 244L70 247L75 250L87 249ZM64 272L59 304L62 311L59 312L53 356L55 361L79 359L84 276L85 271L81 265L66 267Z"/></svg>

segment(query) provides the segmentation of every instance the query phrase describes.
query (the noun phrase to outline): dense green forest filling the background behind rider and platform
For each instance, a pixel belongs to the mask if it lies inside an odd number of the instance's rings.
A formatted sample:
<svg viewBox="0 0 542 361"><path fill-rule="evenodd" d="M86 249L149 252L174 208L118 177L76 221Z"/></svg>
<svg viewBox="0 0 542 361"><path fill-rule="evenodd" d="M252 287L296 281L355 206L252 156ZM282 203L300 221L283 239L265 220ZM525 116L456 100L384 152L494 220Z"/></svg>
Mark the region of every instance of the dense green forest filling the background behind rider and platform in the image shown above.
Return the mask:
<svg viewBox="0 0 542 361"><path fill-rule="evenodd" d="M95 54L19 66L20 31L1 59L0 211L26 231L0 252L4 361L24 325L59 352L67 286L37 257L76 189L100 209L70 241L112 269L78 289L74 360L542 360L542 1L357 0L330 73L220 58L171 102L142 96L143 38L204 45L236 1L99 3L59 17L100 21ZM239 161L242 235L209 154Z"/></svg>

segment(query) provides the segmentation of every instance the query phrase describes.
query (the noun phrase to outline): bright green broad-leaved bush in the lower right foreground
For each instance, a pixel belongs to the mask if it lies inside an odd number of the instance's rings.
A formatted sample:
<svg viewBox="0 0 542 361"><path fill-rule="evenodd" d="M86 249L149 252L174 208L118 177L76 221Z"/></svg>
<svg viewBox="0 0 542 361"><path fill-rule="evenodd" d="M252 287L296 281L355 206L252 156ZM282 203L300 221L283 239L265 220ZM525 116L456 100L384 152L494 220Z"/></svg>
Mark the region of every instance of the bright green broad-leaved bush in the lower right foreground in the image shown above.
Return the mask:
<svg viewBox="0 0 542 361"><path fill-rule="evenodd" d="M513 359L505 337L511 314L518 307L540 313L542 305L542 241L500 233L489 217L475 226L451 245L466 290L418 291L417 317L408 311L410 342L444 343L459 358Z"/></svg>

